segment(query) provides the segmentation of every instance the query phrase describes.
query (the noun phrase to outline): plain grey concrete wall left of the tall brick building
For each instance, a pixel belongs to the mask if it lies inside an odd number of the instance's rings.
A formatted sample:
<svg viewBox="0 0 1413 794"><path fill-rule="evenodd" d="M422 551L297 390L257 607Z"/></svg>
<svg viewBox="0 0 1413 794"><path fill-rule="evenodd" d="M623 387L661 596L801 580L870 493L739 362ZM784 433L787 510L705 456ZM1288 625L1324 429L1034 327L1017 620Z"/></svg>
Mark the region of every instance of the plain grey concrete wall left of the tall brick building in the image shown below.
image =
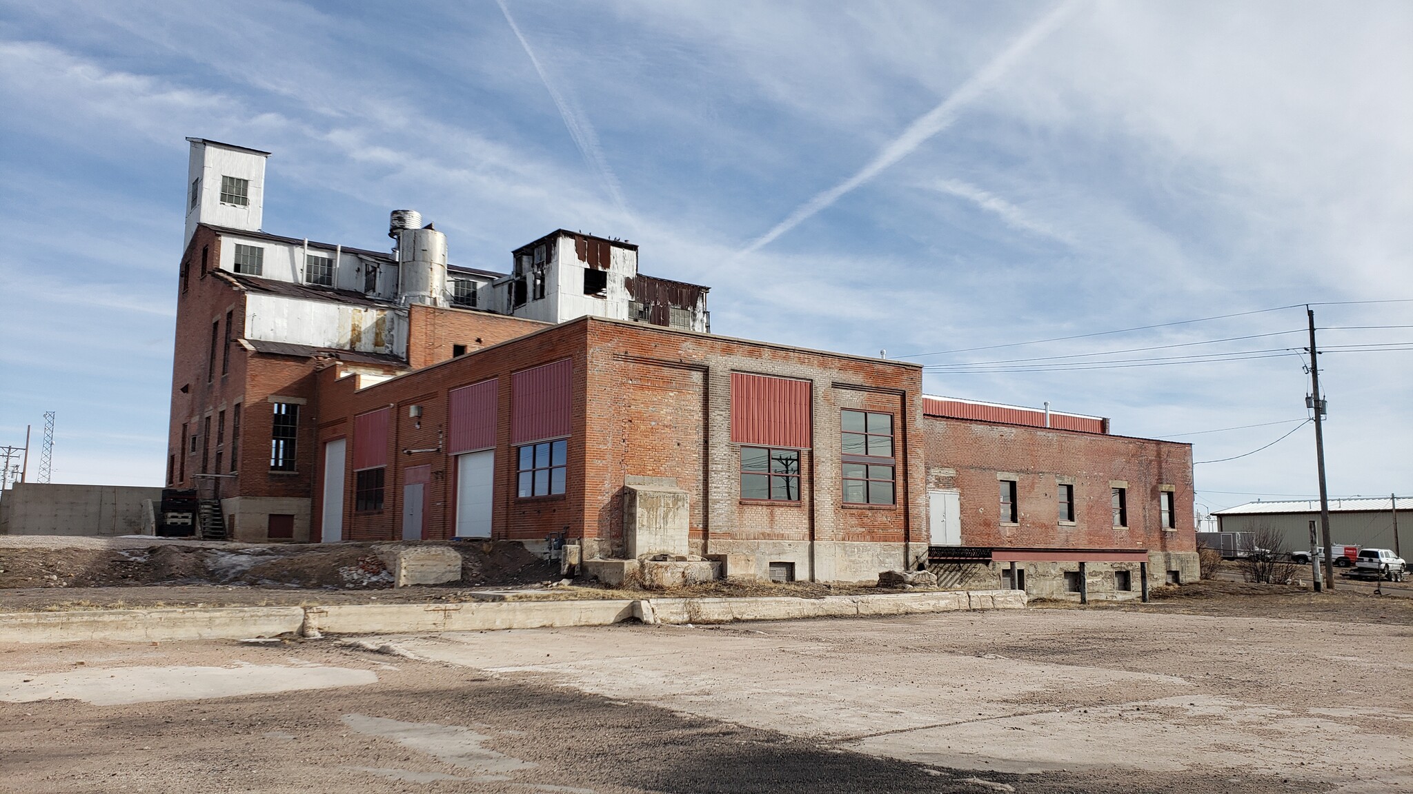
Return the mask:
<svg viewBox="0 0 1413 794"><path fill-rule="evenodd" d="M160 487L16 483L0 494L0 534L136 535L146 523L143 502L161 499Z"/></svg>

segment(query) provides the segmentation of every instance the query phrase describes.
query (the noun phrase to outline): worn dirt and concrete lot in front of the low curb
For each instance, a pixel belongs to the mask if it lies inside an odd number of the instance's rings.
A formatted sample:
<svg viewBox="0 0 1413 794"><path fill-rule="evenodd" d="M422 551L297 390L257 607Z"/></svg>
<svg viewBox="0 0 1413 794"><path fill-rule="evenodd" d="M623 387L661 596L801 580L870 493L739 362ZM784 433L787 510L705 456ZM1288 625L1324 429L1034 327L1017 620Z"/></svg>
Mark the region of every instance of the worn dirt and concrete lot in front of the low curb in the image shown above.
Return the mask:
<svg viewBox="0 0 1413 794"><path fill-rule="evenodd" d="M1306 613L1225 586L893 619L7 647L0 791L1413 784L1402 602Z"/></svg>

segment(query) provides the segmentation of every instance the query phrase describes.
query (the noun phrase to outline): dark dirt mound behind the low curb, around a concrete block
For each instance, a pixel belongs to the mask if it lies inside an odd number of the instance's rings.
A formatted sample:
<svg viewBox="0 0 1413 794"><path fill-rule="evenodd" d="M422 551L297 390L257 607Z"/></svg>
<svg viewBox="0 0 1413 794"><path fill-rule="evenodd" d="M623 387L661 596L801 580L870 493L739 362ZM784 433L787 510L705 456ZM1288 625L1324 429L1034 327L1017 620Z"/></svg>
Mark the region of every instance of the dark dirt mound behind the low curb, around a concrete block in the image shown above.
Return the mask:
<svg viewBox="0 0 1413 794"><path fill-rule="evenodd" d="M0 547L0 589L124 585L250 585L377 589L393 575L383 562L400 543L188 544L151 541L122 548ZM428 544L418 544L428 545ZM558 579L558 568L510 541L451 541L462 581L449 586L506 586ZM382 552L382 554L380 554Z"/></svg>

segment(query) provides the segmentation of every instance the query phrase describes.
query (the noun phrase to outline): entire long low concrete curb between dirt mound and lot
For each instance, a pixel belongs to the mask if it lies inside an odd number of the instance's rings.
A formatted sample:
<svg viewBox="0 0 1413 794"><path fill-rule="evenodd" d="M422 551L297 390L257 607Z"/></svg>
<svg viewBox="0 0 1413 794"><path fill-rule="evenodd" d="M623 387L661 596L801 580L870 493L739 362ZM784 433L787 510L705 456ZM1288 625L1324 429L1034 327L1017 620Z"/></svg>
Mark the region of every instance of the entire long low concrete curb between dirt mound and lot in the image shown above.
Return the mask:
<svg viewBox="0 0 1413 794"><path fill-rule="evenodd" d="M877 593L827 598L646 598L613 600L497 600L468 603L356 603L203 609L96 609L0 613L0 646L83 640L237 640L280 634L407 634L609 626L731 623L804 617L880 617L976 609L1022 609L1020 591Z"/></svg>

